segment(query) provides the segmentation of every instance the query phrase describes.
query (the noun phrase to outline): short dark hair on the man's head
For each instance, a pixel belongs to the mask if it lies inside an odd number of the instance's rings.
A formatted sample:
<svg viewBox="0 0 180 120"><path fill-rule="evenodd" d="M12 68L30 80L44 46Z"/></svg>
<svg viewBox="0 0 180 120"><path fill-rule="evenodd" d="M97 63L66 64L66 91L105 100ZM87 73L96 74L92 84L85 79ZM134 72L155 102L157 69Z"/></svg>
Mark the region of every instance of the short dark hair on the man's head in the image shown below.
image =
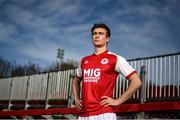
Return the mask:
<svg viewBox="0 0 180 120"><path fill-rule="evenodd" d="M91 28L91 33L93 34L94 29L96 28L104 28L107 32L107 37L111 37L111 31L109 27L104 23L95 23L94 26Z"/></svg>

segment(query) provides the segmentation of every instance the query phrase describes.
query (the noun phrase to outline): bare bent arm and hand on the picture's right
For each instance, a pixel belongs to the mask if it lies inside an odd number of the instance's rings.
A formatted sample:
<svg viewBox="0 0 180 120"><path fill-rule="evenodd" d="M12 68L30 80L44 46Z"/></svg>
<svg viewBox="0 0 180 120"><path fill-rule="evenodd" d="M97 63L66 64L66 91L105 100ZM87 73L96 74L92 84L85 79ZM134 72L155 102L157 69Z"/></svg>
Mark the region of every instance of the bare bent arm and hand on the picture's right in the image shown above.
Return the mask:
<svg viewBox="0 0 180 120"><path fill-rule="evenodd" d="M102 96L101 105L107 106L118 106L128 100L142 85L142 82L137 73L132 75L130 78L130 85L127 90L117 99L110 98L108 96Z"/></svg>

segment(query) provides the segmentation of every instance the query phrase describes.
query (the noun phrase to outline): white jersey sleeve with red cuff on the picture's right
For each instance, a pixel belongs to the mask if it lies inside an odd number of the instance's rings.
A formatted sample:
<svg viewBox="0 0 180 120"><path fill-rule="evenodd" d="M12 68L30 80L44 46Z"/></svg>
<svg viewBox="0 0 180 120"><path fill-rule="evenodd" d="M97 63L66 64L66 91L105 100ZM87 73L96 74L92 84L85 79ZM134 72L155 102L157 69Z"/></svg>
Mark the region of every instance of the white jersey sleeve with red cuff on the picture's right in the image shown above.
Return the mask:
<svg viewBox="0 0 180 120"><path fill-rule="evenodd" d="M126 77L126 79L129 79L136 73L136 70L127 62L127 60L119 55L117 55L115 70Z"/></svg>

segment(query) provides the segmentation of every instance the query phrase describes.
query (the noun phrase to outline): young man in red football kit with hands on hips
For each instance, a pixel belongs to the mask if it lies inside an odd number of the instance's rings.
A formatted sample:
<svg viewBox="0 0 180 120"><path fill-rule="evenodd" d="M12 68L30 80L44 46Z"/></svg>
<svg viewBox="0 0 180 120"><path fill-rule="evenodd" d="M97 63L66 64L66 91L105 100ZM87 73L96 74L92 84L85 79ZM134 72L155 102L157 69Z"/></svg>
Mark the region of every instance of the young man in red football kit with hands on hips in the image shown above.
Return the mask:
<svg viewBox="0 0 180 120"><path fill-rule="evenodd" d="M116 119L113 107L130 98L142 83L123 57L107 50L111 32L105 24L94 24L91 33L94 54L81 60L73 80L75 106L80 112L79 119ZM113 88L119 73L131 82L123 95L113 99Z"/></svg>

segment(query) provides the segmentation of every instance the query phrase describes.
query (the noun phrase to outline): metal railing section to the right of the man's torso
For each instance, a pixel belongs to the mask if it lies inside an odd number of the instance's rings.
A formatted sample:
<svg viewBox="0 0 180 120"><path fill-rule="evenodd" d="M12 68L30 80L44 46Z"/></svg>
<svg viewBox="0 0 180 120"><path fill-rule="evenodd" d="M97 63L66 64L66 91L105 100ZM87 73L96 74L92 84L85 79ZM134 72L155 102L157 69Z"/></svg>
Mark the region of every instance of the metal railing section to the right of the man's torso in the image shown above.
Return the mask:
<svg viewBox="0 0 180 120"><path fill-rule="evenodd" d="M128 60L139 75L145 73L142 91L138 90L132 99L179 100L180 99L180 53ZM114 97L120 96L129 81L119 75Z"/></svg>

